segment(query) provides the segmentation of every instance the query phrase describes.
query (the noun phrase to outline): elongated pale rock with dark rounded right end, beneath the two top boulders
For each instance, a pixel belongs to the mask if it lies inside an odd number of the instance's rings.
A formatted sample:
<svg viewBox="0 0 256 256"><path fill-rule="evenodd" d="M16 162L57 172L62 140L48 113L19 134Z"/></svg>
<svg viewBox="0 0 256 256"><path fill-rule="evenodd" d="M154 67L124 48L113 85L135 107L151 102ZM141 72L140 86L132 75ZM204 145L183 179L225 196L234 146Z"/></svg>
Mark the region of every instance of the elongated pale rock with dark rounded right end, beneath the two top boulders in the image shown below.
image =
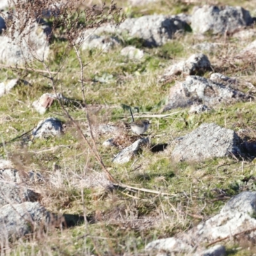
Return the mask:
<svg viewBox="0 0 256 256"><path fill-rule="evenodd" d="M180 61L179 63L166 68L163 76L161 77L161 81L164 81L174 75L195 75L198 72L205 72L207 70L211 70L211 63L207 56L202 53L193 54L188 58L188 60Z"/></svg>

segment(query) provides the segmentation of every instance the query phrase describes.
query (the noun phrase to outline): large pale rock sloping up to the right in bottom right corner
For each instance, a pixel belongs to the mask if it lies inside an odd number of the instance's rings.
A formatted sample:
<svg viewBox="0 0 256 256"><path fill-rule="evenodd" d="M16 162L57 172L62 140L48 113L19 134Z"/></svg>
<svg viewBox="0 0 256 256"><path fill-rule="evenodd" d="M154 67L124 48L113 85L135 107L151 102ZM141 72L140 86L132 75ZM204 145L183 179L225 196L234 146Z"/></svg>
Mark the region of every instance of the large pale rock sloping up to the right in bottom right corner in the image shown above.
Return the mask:
<svg viewBox="0 0 256 256"><path fill-rule="evenodd" d="M256 236L256 192L245 191L231 198L219 214L204 221L188 232L177 237L159 239L146 246L146 250L158 252L191 253L193 255L225 255L225 247L213 246L205 250L207 243L225 239L231 243L239 243L240 239L254 241ZM244 232L244 233L243 233ZM232 239L236 237L236 239ZM195 244L195 248L191 248Z"/></svg>

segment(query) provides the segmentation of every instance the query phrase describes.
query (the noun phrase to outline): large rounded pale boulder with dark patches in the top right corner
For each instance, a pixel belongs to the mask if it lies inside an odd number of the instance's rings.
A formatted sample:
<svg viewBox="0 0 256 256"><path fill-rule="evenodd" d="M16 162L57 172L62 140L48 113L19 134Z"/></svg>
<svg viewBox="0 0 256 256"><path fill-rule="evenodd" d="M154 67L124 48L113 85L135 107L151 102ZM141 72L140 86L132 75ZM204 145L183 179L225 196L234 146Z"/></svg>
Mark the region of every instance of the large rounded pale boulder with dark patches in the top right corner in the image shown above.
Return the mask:
<svg viewBox="0 0 256 256"><path fill-rule="evenodd" d="M236 6L208 6L196 8L191 17L194 33L224 34L252 24L250 12Z"/></svg>

